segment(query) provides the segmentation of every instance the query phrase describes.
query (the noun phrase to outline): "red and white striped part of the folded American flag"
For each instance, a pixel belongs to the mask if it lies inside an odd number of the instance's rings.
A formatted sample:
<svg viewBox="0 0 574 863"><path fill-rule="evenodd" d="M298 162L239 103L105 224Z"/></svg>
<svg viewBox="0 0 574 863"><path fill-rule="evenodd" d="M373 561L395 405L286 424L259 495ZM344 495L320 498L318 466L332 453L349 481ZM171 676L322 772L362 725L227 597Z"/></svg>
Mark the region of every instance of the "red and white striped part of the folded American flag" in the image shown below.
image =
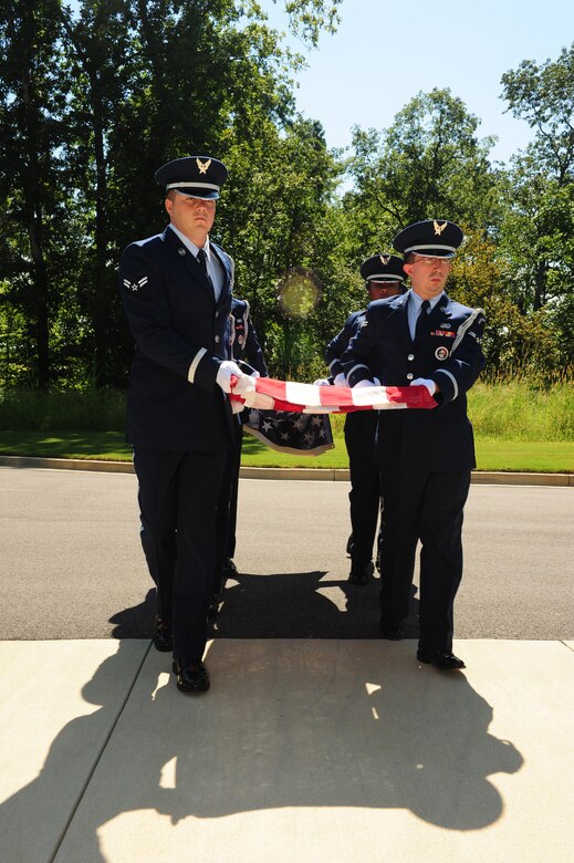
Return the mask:
<svg viewBox="0 0 574 863"><path fill-rule="evenodd" d="M437 403L426 386L346 386L299 384L273 377L231 377L232 401L260 410L302 414L347 414L351 410L432 408Z"/></svg>

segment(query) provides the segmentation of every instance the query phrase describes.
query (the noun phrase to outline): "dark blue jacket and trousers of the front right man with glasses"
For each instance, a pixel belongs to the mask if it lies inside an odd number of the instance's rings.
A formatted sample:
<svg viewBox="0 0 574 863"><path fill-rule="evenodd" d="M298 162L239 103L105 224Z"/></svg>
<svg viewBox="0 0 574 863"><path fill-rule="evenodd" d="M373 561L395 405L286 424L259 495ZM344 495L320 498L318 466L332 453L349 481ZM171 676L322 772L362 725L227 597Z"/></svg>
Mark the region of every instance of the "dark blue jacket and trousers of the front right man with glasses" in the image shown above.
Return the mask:
<svg viewBox="0 0 574 863"><path fill-rule="evenodd" d="M383 538L382 621L408 614L417 540L420 539L419 649L451 653L452 606L462 575L462 510L476 466L467 391L484 366L484 314L446 293L410 337L410 292L369 304L343 355L351 386L379 378L408 386L424 377L440 387L431 410L380 410L375 459L380 467Z"/></svg>

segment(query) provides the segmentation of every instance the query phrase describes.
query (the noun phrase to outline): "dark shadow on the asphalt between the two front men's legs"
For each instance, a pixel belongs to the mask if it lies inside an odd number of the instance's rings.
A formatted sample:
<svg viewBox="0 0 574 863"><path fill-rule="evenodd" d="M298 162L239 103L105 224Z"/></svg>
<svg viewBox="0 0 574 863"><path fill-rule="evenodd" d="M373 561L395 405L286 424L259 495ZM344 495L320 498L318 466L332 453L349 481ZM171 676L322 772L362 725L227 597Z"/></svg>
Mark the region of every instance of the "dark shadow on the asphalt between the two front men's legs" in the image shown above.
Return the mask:
<svg viewBox="0 0 574 863"><path fill-rule="evenodd" d="M213 635L222 638L379 638L378 579L358 586L313 572L228 579ZM413 585L407 637L418 636L418 600Z"/></svg>

